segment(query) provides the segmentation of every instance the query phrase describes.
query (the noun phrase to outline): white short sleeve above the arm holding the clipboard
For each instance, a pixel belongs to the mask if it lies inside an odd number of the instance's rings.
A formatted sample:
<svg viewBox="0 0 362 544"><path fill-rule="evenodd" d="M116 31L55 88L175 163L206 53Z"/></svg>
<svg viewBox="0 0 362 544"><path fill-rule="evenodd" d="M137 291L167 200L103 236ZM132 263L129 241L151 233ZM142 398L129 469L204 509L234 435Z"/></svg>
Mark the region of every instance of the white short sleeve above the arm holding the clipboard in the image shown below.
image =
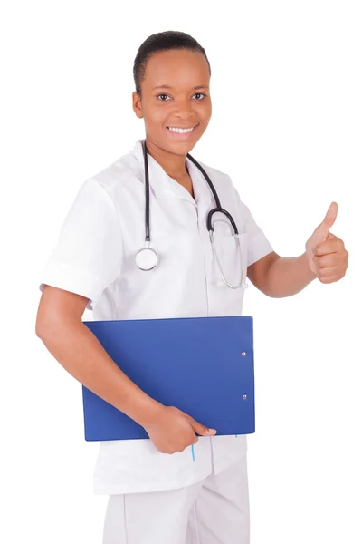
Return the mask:
<svg viewBox="0 0 362 544"><path fill-rule="evenodd" d="M59 238L43 270L44 284L90 299L93 310L103 291L119 276L122 240L118 211L107 190L90 178L66 215Z"/></svg>

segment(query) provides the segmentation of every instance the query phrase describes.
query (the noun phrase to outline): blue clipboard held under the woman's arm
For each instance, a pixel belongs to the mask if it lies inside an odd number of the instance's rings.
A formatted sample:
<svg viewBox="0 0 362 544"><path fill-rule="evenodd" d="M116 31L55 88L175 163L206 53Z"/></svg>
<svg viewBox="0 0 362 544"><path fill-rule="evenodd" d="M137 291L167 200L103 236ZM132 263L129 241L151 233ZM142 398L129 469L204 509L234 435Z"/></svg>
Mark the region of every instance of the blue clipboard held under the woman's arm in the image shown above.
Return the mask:
<svg viewBox="0 0 362 544"><path fill-rule="evenodd" d="M252 316L84 321L119 368L150 397L217 434L255 432ZM149 438L82 385L86 441Z"/></svg>

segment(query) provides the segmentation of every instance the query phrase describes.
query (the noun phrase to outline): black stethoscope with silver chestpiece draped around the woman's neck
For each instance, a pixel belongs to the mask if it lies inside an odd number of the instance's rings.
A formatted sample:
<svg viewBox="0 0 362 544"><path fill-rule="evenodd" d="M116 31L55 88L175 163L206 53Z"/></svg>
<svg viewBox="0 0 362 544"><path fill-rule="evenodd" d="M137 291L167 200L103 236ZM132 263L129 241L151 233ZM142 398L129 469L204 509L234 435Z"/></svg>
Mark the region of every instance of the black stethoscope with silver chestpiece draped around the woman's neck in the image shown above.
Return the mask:
<svg viewBox="0 0 362 544"><path fill-rule="evenodd" d="M145 193L146 193L145 231L146 231L146 237L145 237L145 248L139 249L138 253L136 254L136 265L138 266L138 268L140 270L148 271L148 270L152 270L153 268L157 267L158 255L157 255L157 252L155 251L155 249L149 247L151 238L150 238L150 235L149 235L149 175L148 175L148 149L147 149L147 146L146 146L146 140L142 141L142 148L143 148L143 157L144 157L144 160L145 160ZM240 240L238 238L239 231L238 231L238 228L236 227L235 221L233 220L233 216L226 209L223 209L221 207L220 199L219 199L219 197L218 197L218 195L216 193L216 190L214 189L214 185L213 185L212 181L210 180L209 176L207 175L207 173L205 172L205 170L203 169L203 167L201 166L201 164L199 164L193 157L191 157L190 154L187 153L186 156L202 172L202 174L205 177L205 180L209 184L209 187L212 190L213 195L214 195L214 201L215 201L215 204L216 204L216 208L211 209L208 212L207 223L206 224L207 224L207 230L208 230L209 236L210 236L210 241L211 241L211 244L212 244L212 247L213 247L214 256L216 257L216 262L217 262L217 265L219 267L221 276L223 277L224 284L227 287L231 287L232 289L237 289L239 287L242 287L242 288L245 289L246 287L248 287L248 284L245 283L245 280L243 278L242 248L241 248L241 245L240 245ZM232 224L232 227L233 227L233 235L232 236L233 236L233 238L235 240L236 246L239 248L239 251L240 251L242 277L241 277L240 283L237 284L236 286L231 285L226 280L226 278L224 276L223 267L221 266L220 259L219 259L218 255L217 255L217 251L216 251L216 248L215 248L215 244L214 244L214 227L212 225L211 220L212 220L213 215L214 215L214 213L216 211L218 211L220 213L223 213L227 217L227 219L229 219L229 221L230 221L230 223Z"/></svg>

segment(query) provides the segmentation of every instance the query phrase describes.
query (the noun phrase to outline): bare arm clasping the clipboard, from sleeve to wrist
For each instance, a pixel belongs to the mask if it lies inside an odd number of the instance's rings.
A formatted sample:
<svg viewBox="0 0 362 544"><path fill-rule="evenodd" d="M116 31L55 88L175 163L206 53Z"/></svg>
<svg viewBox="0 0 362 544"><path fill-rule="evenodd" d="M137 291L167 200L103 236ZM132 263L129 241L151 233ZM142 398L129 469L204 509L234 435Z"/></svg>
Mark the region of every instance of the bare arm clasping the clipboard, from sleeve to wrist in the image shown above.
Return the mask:
<svg viewBox="0 0 362 544"><path fill-rule="evenodd" d="M124 374L81 316L88 298L45 285L35 332L81 384L144 427L157 420L163 404L144 393Z"/></svg>

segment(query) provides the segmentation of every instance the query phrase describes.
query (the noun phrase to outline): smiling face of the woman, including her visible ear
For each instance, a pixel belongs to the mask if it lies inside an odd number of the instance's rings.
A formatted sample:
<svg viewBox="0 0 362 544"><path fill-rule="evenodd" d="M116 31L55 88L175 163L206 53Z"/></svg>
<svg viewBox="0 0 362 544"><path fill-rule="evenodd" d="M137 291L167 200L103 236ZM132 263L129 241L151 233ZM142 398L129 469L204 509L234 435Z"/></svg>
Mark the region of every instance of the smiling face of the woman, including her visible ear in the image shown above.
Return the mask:
<svg viewBox="0 0 362 544"><path fill-rule="evenodd" d="M145 121L148 140L177 155L191 151L211 118L209 85L209 67L202 53L171 49L152 54L141 97L132 94L133 109Z"/></svg>

